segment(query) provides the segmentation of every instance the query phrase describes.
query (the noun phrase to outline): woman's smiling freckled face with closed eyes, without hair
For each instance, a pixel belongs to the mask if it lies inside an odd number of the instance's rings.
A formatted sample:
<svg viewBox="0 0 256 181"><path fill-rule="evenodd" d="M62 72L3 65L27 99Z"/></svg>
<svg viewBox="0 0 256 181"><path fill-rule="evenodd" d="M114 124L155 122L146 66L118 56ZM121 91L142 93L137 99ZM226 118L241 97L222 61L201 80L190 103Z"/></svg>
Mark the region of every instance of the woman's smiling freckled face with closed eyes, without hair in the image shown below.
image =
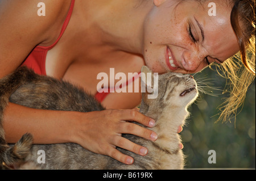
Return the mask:
<svg viewBox="0 0 256 181"><path fill-rule="evenodd" d="M216 16L209 16L212 6L208 7L208 1L154 3L144 22L143 37L144 60L153 71L196 73L208 66L206 57L209 63L221 64L238 52L230 7L216 1Z"/></svg>

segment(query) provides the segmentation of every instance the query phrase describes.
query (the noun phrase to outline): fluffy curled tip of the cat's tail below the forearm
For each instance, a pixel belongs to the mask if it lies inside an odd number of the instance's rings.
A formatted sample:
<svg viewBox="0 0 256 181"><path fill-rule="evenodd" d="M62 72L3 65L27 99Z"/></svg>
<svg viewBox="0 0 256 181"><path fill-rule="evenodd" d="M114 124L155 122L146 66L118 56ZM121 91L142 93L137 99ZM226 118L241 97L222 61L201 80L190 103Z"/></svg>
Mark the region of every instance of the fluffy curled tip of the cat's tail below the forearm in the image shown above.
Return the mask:
<svg viewBox="0 0 256 181"><path fill-rule="evenodd" d="M20 138L18 142L16 142L13 146L3 145L2 148L5 148L3 150L3 153L1 153L2 157L2 164L3 162L5 165L13 165L14 163L24 159L27 157L27 155L30 153L30 149L32 146L33 137L30 133L26 133Z"/></svg>

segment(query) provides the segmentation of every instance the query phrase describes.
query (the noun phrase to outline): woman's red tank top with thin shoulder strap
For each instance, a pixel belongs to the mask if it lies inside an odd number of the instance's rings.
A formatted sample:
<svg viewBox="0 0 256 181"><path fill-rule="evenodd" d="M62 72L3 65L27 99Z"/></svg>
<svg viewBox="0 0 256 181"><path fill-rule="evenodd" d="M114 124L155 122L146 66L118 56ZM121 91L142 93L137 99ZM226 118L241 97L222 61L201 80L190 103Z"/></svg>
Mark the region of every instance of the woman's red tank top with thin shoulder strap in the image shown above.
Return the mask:
<svg viewBox="0 0 256 181"><path fill-rule="evenodd" d="M36 46L30 52L30 54L28 54L26 60L23 61L21 66L27 66L28 68L34 70L35 73L37 73L37 74L46 75L46 55L47 55L47 52L48 52L48 50L55 47L55 45L58 43L61 36L63 35L65 29L67 28L68 22L71 18L71 15L72 15L74 4L75 4L75 0L72 0L71 5L70 5L69 10L68 10L68 15L67 15L67 17L64 21L64 24L63 24L63 26L61 28L61 31L60 31L60 35L57 38L57 40L52 45L50 45L48 47ZM135 78L137 78L137 77L134 77L132 80L128 80L126 82L126 85L128 85L131 81L134 81ZM110 90L110 88L109 88L109 90ZM110 91L108 91L108 92L97 92L96 95L95 95L95 98L99 102L102 102L109 93L110 93Z"/></svg>

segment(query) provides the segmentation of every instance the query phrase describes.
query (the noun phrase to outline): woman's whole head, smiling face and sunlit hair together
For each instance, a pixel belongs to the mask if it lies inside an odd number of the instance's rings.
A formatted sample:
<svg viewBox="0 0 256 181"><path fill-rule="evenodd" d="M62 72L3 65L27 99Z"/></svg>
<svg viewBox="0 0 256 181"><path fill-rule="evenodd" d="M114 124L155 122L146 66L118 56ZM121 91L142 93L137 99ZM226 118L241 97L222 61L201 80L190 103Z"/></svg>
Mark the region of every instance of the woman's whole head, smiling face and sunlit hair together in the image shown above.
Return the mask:
<svg viewBox="0 0 256 181"><path fill-rule="evenodd" d="M212 1L160 3L159 9L149 16L148 22L152 24L146 24L152 31L146 31L145 35L148 33L150 38L145 38L144 44L151 41L154 45L148 44L144 58L146 64L153 63L153 56L156 60L162 59L160 54L152 52L159 49L160 44L166 44L167 66L152 64L155 71L160 71L161 66L170 71L195 73L214 62L218 71L222 70L220 74L230 81L227 82L230 88L225 89L230 92L230 98L222 104L218 119L225 122L242 105L247 88L255 78L255 1L216 1L216 16L209 16L209 3ZM155 36L154 32L160 33Z"/></svg>

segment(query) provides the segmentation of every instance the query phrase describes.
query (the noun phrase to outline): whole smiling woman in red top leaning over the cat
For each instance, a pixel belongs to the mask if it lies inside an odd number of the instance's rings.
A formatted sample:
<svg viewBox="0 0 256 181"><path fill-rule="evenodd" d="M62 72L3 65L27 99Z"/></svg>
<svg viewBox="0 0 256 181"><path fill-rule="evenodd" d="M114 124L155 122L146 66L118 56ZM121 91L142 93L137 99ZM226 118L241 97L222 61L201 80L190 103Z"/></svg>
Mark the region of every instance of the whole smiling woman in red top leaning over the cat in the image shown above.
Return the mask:
<svg viewBox="0 0 256 181"><path fill-rule="evenodd" d="M26 65L97 95L97 74L110 77L110 68L128 77L143 65L155 73L191 74L215 63L231 82L223 121L236 113L255 78L255 0L45 0L46 16L38 16L38 3L0 1L0 78ZM216 5L216 16L209 16L209 3ZM241 57L230 58L234 54ZM89 113L10 103L3 121L6 140L16 142L30 132L35 144L75 142L131 164L133 158L115 147L140 155L146 148L121 134L157 138L130 123L154 126L150 117L131 110L140 102L140 92L113 92L101 100L107 110Z"/></svg>

